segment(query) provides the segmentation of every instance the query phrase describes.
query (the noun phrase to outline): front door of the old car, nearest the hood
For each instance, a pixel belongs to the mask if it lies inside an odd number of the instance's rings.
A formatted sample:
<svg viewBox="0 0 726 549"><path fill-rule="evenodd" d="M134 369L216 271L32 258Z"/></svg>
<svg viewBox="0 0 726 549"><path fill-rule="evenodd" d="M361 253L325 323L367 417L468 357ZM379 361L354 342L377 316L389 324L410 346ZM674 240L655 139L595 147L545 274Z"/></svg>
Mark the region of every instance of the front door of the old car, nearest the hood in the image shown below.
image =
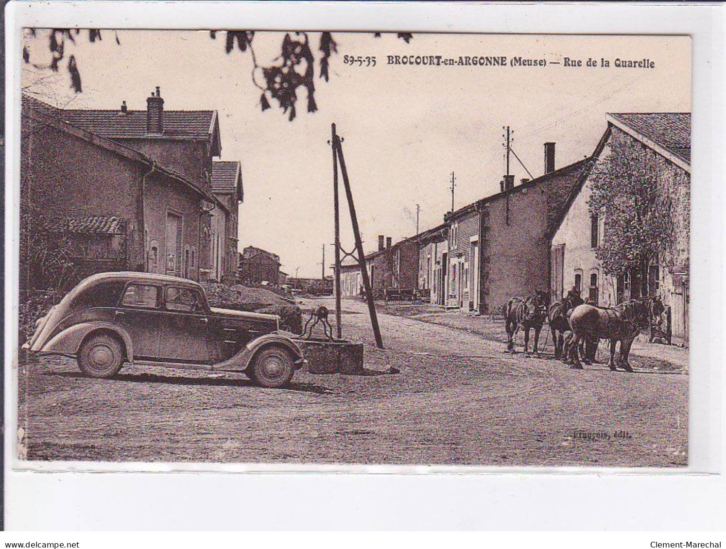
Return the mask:
<svg viewBox="0 0 726 549"><path fill-rule="evenodd" d="M201 292L189 286L166 286L160 355L171 362L209 363L209 315Z"/></svg>

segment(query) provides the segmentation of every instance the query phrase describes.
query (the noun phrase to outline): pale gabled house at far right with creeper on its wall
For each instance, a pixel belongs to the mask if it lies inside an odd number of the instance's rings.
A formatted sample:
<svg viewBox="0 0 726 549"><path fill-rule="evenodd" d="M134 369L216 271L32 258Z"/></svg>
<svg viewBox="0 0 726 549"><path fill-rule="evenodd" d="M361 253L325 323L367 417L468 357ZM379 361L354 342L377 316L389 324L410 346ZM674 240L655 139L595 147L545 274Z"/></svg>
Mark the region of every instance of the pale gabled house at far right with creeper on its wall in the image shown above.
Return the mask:
<svg viewBox="0 0 726 549"><path fill-rule="evenodd" d="M613 139L624 139L650 155L658 184L672 203L673 239L648 266L648 294L658 294L669 307L674 342L688 342L690 238L690 113L655 112L608 114L608 127L592 159L611 154ZM592 181L589 173L572 189L566 207L550 231L552 295L576 288L605 307L640 294L637 273L610 276L597 260L607 220L590 215Z"/></svg>

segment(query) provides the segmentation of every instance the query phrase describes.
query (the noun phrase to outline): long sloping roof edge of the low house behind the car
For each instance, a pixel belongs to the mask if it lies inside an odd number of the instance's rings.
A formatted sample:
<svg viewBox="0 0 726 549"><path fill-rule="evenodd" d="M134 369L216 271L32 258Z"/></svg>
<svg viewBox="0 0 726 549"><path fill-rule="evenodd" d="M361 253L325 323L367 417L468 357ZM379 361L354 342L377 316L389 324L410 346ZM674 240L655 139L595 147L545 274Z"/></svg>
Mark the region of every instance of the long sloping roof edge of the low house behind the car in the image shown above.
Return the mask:
<svg viewBox="0 0 726 549"><path fill-rule="evenodd" d="M224 207L219 199L217 199L211 192L201 188L197 185L197 183L189 181L189 179L181 176L181 174L176 173L174 170L158 164L155 160L152 160L141 152L136 151L136 149L131 149L130 147L117 143L116 141L106 139L96 133L84 130L83 128L78 128L76 125L63 121L57 116L58 110L49 104L41 102L33 97L23 95L22 107L23 117L27 117L29 120L34 120L44 126L51 126L59 131L75 136L78 139L83 139L83 141L87 141L101 147L102 149L118 154L121 157L147 165L149 168L153 168L155 172L163 173L163 175L179 181L179 183L183 186L195 191L195 193L199 194L205 200Z"/></svg>

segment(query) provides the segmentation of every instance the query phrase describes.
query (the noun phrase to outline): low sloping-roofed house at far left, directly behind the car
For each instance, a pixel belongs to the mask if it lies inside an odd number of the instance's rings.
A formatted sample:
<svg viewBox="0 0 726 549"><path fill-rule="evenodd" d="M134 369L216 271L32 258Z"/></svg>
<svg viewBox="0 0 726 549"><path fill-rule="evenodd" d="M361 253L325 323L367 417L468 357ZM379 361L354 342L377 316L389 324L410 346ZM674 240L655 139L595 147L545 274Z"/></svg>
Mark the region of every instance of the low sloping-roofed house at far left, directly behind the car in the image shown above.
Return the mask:
<svg viewBox="0 0 726 549"><path fill-rule="evenodd" d="M51 248L68 243L62 255L72 272L64 287L120 269L199 278L205 208L217 203L199 180L29 96L20 153L21 295L53 285L33 263L38 239Z"/></svg>

